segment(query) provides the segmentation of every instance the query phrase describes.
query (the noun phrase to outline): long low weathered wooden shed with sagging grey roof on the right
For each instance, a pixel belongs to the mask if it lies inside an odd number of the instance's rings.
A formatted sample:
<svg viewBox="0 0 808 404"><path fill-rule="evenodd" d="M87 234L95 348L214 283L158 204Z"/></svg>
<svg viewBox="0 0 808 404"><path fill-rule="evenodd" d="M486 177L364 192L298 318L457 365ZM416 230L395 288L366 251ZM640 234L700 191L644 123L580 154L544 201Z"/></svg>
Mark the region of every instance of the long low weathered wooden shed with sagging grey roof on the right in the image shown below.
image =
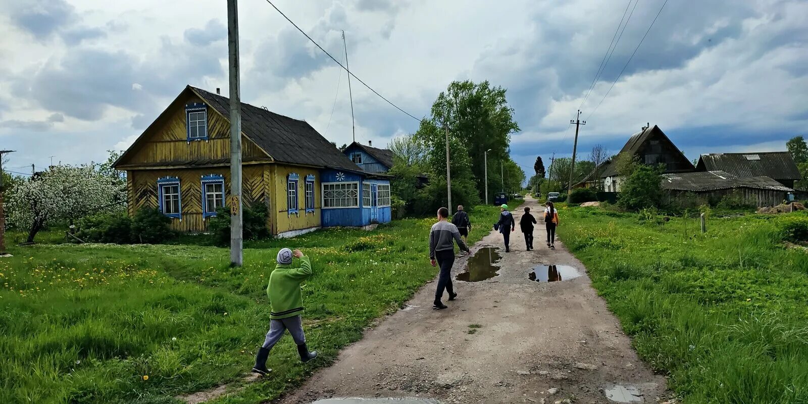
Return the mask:
<svg viewBox="0 0 808 404"><path fill-rule="evenodd" d="M725 171L664 174L662 187L671 199L695 196L696 204L715 204L736 195L744 204L757 207L780 204L793 189L766 176L739 177Z"/></svg>

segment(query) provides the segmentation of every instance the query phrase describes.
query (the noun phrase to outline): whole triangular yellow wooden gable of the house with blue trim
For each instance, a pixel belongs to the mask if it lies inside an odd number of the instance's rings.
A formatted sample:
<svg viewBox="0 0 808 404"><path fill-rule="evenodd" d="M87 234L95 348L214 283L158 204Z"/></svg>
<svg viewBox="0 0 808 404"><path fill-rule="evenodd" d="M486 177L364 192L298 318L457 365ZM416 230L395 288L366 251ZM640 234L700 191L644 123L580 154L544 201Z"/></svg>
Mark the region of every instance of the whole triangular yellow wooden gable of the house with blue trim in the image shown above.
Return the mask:
<svg viewBox="0 0 808 404"><path fill-rule="evenodd" d="M207 138L189 140L186 106L206 109ZM226 166L230 158L229 120L187 87L118 159L119 170L157 167ZM269 162L271 157L242 134L242 161Z"/></svg>

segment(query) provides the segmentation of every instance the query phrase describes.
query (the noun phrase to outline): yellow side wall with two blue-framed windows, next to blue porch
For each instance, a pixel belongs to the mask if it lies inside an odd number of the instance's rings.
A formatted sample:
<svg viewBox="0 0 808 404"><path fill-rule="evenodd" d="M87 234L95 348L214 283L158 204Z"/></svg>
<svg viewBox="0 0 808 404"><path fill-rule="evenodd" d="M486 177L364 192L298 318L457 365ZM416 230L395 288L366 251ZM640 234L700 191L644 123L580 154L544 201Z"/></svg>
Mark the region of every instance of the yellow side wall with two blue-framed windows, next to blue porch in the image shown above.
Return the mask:
<svg viewBox="0 0 808 404"><path fill-rule="evenodd" d="M272 223L272 234L281 234L293 230L309 229L312 227L319 227L320 221L320 171L316 168L307 168L302 166L286 166L282 164L272 164L269 168L269 181L268 189L271 192L271 198L275 204L271 210L272 216L275 221ZM288 213L288 201L286 193L286 184L288 175L291 173L297 174L300 178L297 180L297 213ZM305 211L305 176L314 175L314 212L306 213Z"/></svg>

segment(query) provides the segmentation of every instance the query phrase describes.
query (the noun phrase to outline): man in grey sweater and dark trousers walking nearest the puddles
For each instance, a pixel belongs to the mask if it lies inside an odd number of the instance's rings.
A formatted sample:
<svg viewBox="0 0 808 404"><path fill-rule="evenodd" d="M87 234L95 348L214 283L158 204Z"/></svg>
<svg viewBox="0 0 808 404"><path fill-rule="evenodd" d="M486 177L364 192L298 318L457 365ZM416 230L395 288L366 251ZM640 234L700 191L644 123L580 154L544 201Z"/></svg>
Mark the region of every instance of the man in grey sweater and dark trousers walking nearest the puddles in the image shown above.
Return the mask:
<svg viewBox="0 0 808 404"><path fill-rule="evenodd" d="M461 250L469 252L469 247L460 238L460 232L456 225L449 223L446 218L449 216L447 208L438 209L438 222L432 225L429 231L429 260L432 267L436 262L440 265L440 276L438 276L438 290L435 292L435 303L432 309L446 309L440 299L444 296L444 289L449 294L449 300L453 301L457 293L452 288L452 264L454 264L454 242Z"/></svg>

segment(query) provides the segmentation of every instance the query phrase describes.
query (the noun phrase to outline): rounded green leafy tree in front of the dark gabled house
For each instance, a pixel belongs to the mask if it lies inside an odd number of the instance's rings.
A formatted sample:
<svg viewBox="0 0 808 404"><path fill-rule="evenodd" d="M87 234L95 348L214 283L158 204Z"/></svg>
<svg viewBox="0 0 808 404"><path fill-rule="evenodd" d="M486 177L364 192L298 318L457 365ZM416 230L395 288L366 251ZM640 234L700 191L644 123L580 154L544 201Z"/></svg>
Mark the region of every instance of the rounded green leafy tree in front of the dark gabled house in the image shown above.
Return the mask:
<svg viewBox="0 0 808 404"><path fill-rule="evenodd" d="M629 160L633 161L633 159ZM657 208L662 203L662 173L664 166L633 164L633 170L621 184L617 204L626 210Z"/></svg>

